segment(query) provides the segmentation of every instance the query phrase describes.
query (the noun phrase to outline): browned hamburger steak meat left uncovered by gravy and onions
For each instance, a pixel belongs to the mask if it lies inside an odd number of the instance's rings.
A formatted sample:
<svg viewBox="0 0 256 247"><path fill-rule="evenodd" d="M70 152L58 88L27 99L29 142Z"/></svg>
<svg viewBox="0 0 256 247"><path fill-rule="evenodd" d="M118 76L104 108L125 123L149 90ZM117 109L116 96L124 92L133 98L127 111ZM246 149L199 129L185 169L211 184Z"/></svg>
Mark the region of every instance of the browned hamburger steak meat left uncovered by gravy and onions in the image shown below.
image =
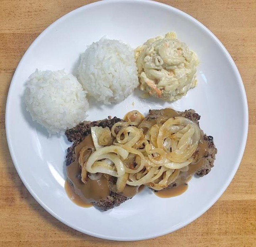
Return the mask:
<svg viewBox="0 0 256 247"><path fill-rule="evenodd" d="M200 119L200 116L192 109L186 110L185 112L178 112L182 117L186 117L191 119L193 122L197 123L199 126L198 120ZM146 119L155 119L159 116L164 115L164 109L162 110L149 110L149 114L146 116ZM91 127L94 126L101 126L102 128L109 127L110 129L112 126L117 122L124 122L123 119L114 117L112 119L103 119L98 120L94 122L90 121L84 121L76 125L76 127L66 130L65 135L68 138L70 142L74 142L71 147L68 148L67 154L66 154L66 166L69 166L72 162L75 161L75 146L78 145L84 138L91 134ZM204 139L208 143L208 150L205 156L204 164L199 170L196 172L196 174L200 177L208 174L213 167L213 162L215 160L215 155L217 153L217 149L215 148L215 145L213 143L213 137L207 136L203 134ZM71 183L71 181L69 181ZM72 183L71 183L72 184ZM175 182L170 184L170 187L175 187ZM107 211L109 209L114 208L115 206L119 206L121 203L125 202L130 198L125 197L124 195L117 194L114 192L110 192L110 195L107 196L106 199L102 199L98 202L93 202L93 204L100 208L103 211Z"/></svg>

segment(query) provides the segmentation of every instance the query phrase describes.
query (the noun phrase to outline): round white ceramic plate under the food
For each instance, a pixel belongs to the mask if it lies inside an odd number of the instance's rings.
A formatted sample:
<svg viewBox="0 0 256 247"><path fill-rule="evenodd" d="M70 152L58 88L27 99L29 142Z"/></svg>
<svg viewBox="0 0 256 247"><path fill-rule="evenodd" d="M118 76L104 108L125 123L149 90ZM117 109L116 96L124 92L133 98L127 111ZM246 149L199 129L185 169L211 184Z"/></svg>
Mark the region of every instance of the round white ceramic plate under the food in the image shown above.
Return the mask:
<svg viewBox="0 0 256 247"><path fill-rule="evenodd" d="M195 109L201 128L214 136L218 148L212 171L194 177L188 190L174 198L159 198L149 190L121 206L101 212L81 208L64 190L65 137L48 136L32 122L22 101L25 81L36 68L75 71L86 45L102 36L119 39L132 47L148 38L175 31L200 60L198 86L172 104L137 93L111 106L92 104L89 120L108 115L123 117L138 109L173 107ZM134 102L134 106L133 106ZM173 7L151 1L100 1L81 7L50 25L30 46L12 79L6 105L6 134L12 160L32 196L64 224L92 236L111 240L142 240L175 231L198 218L214 204L234 177L241 161L248 128L244 86L227 50L201 23Z"/></svg>

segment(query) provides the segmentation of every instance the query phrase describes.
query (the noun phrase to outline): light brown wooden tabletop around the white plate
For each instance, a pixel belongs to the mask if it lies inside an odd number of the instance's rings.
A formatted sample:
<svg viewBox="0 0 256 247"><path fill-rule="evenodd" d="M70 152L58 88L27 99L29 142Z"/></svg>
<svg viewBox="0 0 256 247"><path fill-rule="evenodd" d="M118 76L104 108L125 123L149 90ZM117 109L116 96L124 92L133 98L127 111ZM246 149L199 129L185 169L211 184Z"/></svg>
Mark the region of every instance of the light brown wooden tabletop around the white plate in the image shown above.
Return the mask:
<svg viewBox="0 0 256 247"><path fill-rule="evenodd" d="M256 246L255 0L162 1L197 18L220 39L235 60L247 93L249 134L244 157L228 189L204 215L183 229L151 240L107 241L62 224L23 186L5 135L5 104L12 75L38 34L90 2L94 1L0 0L0 246Z"/></svg>

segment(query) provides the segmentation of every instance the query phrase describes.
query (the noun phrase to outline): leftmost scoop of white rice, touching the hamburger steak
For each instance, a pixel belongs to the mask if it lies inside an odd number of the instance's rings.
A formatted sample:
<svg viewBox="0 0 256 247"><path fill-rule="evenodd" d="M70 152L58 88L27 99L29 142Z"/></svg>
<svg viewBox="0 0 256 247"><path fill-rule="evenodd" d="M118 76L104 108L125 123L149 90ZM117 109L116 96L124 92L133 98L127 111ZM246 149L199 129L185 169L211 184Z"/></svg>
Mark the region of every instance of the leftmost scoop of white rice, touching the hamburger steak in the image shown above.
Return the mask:
<svg viewBox="0 0 256 247"><path fill-rule="evenodd" d="M26 85L27 111L49 134L63 134L86 118L86 93L76 77L64 70L36 70Z"/></svg>

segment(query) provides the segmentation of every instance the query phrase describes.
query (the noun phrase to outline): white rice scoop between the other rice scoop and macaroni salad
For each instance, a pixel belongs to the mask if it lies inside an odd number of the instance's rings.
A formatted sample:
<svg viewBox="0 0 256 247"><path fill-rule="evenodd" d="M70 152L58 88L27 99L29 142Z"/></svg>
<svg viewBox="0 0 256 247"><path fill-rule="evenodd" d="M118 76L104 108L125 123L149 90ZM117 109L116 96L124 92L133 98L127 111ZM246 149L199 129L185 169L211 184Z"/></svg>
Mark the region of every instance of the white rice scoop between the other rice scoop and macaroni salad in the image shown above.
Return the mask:
<svg viewBox="0 0 256 247"><path fill-rule="evenodd" d="M133 50L120 41L101 38L81 55L78 79L97 101L121 102L139 85Z"/></svg>

